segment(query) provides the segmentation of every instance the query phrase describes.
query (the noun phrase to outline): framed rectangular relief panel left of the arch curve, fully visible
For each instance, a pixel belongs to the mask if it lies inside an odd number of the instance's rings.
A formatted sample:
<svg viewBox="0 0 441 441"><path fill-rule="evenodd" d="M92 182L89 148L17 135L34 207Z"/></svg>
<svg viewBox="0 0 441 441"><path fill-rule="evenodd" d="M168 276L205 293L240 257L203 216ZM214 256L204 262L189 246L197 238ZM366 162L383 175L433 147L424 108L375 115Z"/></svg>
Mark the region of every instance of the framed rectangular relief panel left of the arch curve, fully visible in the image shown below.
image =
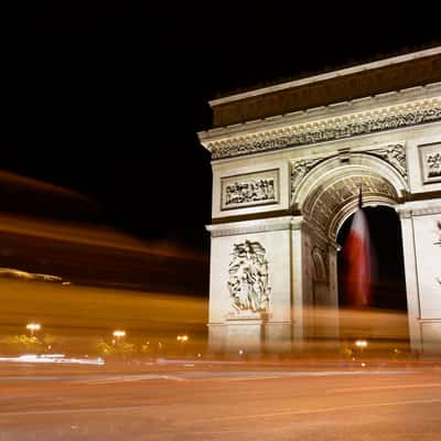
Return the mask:
<svg viewBox="0 0 441 441"><path fill-rule="evenodd" d="M235 209L279 202L279 170L220 179L220 209Z"/></svg>

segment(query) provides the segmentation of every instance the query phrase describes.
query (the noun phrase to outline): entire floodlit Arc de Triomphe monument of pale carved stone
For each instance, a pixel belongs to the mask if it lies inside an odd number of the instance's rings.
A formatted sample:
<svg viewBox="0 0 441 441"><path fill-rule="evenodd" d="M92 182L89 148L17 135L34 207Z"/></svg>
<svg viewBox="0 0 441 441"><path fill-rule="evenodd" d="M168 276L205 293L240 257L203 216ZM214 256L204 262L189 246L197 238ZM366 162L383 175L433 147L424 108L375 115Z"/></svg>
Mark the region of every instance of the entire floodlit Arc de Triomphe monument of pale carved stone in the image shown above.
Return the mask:
<svg viewBox="0 0 441 441"><path fill-rule="evenodd" d="M359 186L399 214L411 348L441 346L440 80L435 47L211 101L213 349L289 351L308 308L337 311Z"/></svg>

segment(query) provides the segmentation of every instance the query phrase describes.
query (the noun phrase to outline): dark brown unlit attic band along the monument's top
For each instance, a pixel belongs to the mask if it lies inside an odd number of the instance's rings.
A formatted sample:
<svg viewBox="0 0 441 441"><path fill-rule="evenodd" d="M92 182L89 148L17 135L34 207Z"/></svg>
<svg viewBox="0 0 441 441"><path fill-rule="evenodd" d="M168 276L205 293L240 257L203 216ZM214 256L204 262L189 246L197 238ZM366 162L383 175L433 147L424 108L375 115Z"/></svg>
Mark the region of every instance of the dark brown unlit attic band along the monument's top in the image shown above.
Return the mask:
<svg viewBox="0 0 441 441"><path fill-rule="evenodd" d="M430 52L430 51L429 51ZM428 52L428 53L429 53ZM357 99L389 90L405 89L441 80L441 54L421 58L406 58L377 68L366 68L347 74L283 89L271 89L261 94L247 95L243 99L214 101L214 127L225 127L244 121L256 120L299 111L332 103ZM430 52L431 53L431 52ZM346 71L345 71L346 72Z"/></svg>

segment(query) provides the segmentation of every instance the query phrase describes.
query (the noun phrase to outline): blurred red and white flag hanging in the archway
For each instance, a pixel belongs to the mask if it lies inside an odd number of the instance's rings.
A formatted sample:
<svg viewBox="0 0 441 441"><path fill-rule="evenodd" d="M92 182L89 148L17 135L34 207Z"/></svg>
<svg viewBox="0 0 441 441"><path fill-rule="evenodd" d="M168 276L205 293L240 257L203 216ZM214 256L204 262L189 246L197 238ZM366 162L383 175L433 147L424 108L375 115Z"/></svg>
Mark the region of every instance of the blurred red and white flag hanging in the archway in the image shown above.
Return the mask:
<svg viewBox="0 0 441 441"><path fill-rule="evenodd" d="M370 303L370 240L366 216L362 208L354 215L343 252L348 304L367 306Z"/></svg>

